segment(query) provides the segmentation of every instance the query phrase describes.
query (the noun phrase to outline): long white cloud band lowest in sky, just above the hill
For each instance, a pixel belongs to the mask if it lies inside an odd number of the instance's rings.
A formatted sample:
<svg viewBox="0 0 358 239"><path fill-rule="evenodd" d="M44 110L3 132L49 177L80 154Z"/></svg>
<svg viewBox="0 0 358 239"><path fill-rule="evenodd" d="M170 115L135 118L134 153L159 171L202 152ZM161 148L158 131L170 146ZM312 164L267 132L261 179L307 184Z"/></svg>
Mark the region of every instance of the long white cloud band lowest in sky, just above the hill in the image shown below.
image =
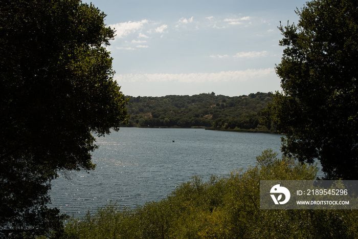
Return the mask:
<svg viewBox="0 0 358 239"><path fill-rule="evenodd" d="M222 71L217 73L189 73L189 74L124 74L116 75L115 80L119 82L184 82L184 83L204 83L204 82L225 82L225 81L245 81L275 75L273 68L267 69L248 69L244 71Z"/></svg>

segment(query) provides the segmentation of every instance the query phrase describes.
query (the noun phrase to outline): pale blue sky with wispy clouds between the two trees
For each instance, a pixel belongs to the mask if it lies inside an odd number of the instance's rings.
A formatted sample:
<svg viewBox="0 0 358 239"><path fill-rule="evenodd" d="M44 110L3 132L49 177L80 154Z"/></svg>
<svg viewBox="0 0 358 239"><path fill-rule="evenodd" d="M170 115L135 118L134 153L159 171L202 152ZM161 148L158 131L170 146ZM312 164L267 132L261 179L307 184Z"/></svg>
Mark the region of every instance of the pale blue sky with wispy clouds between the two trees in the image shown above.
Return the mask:
<svg viewBox="0 0 358 239"><path fill-rule="evenodd" d="M281 91L278 30L302 0L93 0L116 30L107 50L127 96Z"/></svg>

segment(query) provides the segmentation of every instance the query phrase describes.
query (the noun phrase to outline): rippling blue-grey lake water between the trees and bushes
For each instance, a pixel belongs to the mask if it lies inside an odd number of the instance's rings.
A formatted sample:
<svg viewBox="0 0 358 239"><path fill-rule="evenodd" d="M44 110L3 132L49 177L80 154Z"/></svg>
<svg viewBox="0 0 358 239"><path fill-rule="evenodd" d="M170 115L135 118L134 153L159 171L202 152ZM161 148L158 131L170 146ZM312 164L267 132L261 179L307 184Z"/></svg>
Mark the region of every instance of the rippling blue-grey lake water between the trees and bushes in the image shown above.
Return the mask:
<svg viewBox="0 0 358 239"><path fill-rule="evenodd" d="M52 207L84 216L117 202L135 207L158 201L180 183L201 175L225 176L255 165L267 148L280 153L281 135L205 129L121 128L97 139L96 170L73 172L52 182ZM173 142L174 141L174 142Z"/></svg>

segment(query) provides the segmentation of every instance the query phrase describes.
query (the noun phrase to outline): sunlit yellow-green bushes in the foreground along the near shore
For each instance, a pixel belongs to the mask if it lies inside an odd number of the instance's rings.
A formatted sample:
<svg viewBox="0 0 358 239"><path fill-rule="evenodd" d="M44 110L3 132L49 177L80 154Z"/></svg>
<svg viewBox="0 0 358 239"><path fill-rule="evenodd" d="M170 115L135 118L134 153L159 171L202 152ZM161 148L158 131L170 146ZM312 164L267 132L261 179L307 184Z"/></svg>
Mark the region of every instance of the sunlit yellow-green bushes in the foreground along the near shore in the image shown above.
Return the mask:
<svg viewBox="0 0 358 239"><path fill-rule="evenodd" d="M272 150L230 177L193 177L166 199L135 209L109 204L72 218L64 238L355 238L353 210L260 210L260 180L314 180L318 168Z"/></svg>

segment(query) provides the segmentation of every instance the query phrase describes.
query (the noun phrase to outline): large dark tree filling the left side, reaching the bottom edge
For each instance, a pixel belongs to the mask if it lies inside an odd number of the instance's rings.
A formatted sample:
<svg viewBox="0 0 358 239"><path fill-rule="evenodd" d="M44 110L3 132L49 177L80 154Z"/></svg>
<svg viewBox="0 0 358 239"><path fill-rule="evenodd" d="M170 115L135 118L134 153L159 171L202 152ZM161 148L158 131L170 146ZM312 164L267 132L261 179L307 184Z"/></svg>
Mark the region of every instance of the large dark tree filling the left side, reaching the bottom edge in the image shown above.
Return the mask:
<svg viewBox="0 0 358 239"><path fill-rule="evenodd" d="M79 0L0 3L0 237L61 229L51 180L94 169L94 136L128 121L104 17Z"/></svg>

